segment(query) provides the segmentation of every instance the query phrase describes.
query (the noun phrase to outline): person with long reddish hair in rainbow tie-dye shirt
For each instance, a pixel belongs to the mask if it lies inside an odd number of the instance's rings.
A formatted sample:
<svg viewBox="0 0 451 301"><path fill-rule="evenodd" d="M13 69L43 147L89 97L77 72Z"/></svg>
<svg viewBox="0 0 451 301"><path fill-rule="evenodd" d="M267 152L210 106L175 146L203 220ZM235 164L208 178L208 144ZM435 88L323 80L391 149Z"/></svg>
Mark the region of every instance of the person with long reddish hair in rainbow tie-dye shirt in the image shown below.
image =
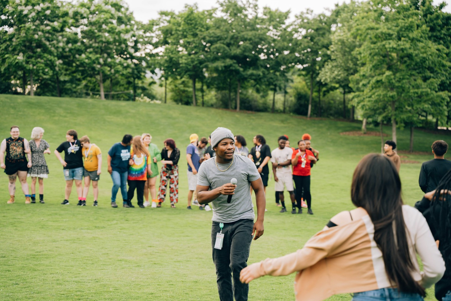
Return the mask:
<svg viewBox="0 0 451 301"><path fill-rule="evenodd" d="M132 199L136 189L138 206L139 208L145 208L143 204L144 185L147 181L147 173L152 175L152 158L149 155L149 151L141 141L141 136L133 137L130 154L131 158L129 161L129 175L127 177L127 182L129 183L129 191L127 192L127 204L124 204L124 207L134 208L134 206L132 205Z"/></svg>

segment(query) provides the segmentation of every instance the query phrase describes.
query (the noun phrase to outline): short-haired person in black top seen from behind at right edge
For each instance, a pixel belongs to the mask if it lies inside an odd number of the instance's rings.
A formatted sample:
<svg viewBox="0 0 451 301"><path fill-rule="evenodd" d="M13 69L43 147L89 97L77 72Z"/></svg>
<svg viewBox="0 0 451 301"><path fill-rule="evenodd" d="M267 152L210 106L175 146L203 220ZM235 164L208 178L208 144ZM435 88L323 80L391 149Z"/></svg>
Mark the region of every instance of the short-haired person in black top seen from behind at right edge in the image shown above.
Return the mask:
<svg viewBox="0 0 451 301"><path fill-rule="evenodd" d="M443 140L437 140L431 148L434 158L423 162L418 180L421 190L425 193L434 190L446 172L451 169L451 161L445 160L448 144Z"/></svg>

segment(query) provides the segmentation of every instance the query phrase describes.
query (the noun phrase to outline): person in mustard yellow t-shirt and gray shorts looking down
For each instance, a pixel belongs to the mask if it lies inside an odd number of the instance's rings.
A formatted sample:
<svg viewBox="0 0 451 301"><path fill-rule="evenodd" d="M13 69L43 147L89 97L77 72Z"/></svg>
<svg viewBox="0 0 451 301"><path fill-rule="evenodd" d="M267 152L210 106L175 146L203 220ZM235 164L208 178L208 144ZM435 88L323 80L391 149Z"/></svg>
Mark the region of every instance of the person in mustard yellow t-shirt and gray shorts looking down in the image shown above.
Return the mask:
<svg viewBox="0 0 451 301"><path fill-rule="evenodd" d="M100 179L100 174L102 173L102 153L97 145L90 142L88 136L83 136L80 138L80 143L83 147L83 176L85 185L83 187L82 200L81 202L78 202L78 205L86 206L87 192L92 181L92 190L94 192L94 203L92 206L97 207L97 197L99 196L98 182Z"/></svg>

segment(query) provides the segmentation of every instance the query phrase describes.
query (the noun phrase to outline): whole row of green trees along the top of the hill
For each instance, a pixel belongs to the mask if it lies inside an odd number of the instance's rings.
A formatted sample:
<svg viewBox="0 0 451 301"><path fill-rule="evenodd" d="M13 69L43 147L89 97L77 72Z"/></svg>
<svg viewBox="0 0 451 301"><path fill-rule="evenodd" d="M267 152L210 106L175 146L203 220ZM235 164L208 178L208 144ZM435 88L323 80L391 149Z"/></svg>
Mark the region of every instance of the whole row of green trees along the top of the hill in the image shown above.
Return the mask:
<svg viewBox="0 0 451 301"><path fill-rule="evenodd" d="M391 124L396 141L396 128L450 123L445 5L351 1L293 17L225 0L143 23L120 0L0 0L0 93L134 100L159 83L164 102L169 89L185 105L358 116Z"/></svg>

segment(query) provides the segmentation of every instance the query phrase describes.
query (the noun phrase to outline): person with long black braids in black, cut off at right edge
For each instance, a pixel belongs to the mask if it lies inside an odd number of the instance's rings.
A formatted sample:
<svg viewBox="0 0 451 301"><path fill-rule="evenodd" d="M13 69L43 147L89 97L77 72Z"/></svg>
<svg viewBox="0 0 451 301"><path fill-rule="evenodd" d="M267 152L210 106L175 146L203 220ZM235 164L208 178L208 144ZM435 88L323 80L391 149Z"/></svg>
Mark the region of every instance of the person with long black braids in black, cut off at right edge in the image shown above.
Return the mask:
<svg viewBox="0 0 451 301"><path fill-rule="evenodd" d="M451 170L437 185L436 190L426 193L417 208L426 218L438 243L438 250L445 260L446 271L435 284L435 297L439 301L451 301Z"/></svg>

